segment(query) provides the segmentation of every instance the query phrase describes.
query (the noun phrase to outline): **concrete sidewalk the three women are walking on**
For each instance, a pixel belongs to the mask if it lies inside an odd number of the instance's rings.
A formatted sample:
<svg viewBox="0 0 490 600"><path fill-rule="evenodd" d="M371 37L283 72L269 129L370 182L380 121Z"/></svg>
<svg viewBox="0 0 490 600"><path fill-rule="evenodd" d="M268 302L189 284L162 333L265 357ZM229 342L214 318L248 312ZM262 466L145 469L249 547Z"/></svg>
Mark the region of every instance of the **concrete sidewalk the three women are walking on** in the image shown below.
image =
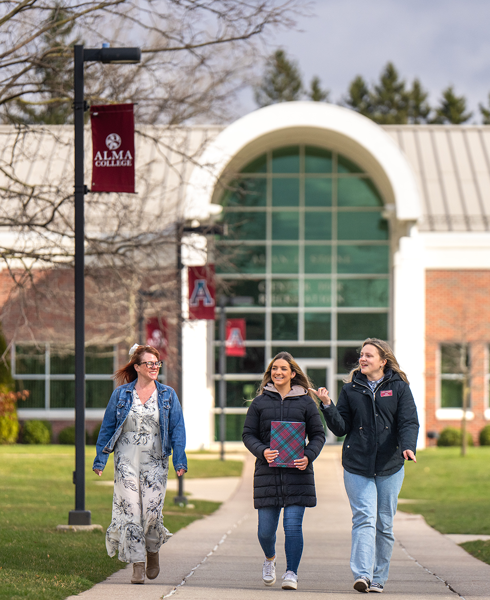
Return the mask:
<svg viewBox="0 0 490 600"><path fill-rule="evenodd" d="M144 586L129 583L132 567L74 598L83 600L250 600L292 594L298 600L330 600L341 594L360 598L352 589L349 569L351 511L340 466L340 449L325 446L315 461L318 505L306 509L304 551L298 590L280 587L285 571L282 527L277 535L278 581L265 587L262 552L256 537L252 504L253 460L247 460L243 481L216 513L178 531L160 550L162 571ZM452 540L431 529L417 515L399 513L396 544L385 595L399 600L490 598L490 565L474 559Z"/></svg>

